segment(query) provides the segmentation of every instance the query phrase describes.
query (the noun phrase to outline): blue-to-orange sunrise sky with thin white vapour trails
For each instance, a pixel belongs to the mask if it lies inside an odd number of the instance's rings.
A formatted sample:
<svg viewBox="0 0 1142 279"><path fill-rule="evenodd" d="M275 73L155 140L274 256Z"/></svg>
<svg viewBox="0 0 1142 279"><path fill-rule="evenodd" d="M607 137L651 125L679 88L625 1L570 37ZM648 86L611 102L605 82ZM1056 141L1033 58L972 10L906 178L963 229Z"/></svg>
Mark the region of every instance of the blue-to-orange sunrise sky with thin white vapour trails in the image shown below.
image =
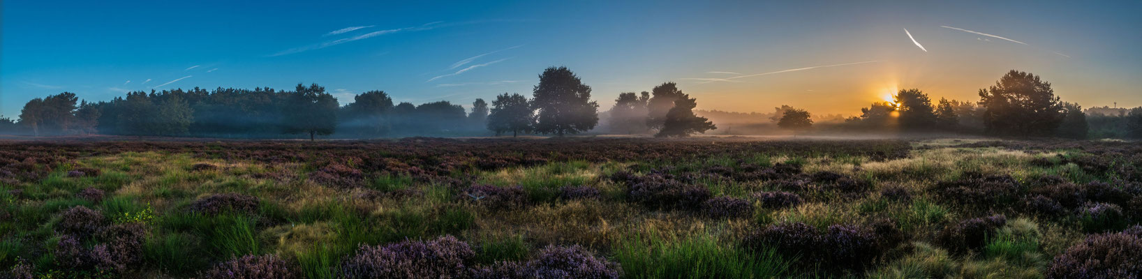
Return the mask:
<svg viewBox="0 0 1142 279"><path fill-rule="evenodd" d="M896 89L978 101L1010 70L1142 105L1142 1L2 1L0 115L62 91L324 86L471 106L548 66L698 109L853 115Z"/></svg>

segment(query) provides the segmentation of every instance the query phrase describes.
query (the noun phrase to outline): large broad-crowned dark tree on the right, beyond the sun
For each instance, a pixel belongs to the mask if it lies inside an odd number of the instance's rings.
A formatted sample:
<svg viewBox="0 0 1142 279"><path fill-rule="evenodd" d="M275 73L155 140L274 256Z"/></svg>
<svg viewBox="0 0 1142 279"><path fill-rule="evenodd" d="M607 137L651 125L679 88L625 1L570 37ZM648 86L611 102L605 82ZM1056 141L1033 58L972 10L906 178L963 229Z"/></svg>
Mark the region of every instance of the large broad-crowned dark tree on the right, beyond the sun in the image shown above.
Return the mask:
<svg viewBox="0 0 1142 279"><path fill-rule="evenodd" d="M988 134L1051 135L1063 119L1063 107L1051 83L1038 75L1012 70L995 86L980 89L987 107L983 123Z"/></svg>

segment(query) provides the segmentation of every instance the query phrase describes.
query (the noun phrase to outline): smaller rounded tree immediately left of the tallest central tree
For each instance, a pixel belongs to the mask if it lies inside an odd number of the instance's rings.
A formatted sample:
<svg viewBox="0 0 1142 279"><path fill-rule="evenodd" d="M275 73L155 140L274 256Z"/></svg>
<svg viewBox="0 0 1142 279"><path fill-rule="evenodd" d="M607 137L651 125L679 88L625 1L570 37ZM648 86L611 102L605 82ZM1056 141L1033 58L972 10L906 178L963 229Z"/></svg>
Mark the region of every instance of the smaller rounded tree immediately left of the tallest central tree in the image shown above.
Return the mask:
<svg viewBox="0 0 1142 279"><path fill-rule="evenodd" d="M496 96L492 101L491 114L488 115L488 129L501 135L512 131L516 137L521 131L531 131L536 123L536 113L531 110L528 97L507 93Z"/></svg>

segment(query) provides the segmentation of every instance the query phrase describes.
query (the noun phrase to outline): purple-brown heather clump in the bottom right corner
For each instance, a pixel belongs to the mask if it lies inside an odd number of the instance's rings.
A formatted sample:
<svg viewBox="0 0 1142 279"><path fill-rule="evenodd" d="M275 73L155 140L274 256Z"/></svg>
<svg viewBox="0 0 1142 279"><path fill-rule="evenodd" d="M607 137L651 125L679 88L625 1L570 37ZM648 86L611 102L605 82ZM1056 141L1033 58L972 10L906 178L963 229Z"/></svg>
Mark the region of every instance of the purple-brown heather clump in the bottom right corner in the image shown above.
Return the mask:
<svg viewBox="0 0 1142 279"><path fill-rule="evenodd" d="M1055 256L1047 278L1110 279L1142 277L1142 236L1129 232L1089 236Z"/></svg>

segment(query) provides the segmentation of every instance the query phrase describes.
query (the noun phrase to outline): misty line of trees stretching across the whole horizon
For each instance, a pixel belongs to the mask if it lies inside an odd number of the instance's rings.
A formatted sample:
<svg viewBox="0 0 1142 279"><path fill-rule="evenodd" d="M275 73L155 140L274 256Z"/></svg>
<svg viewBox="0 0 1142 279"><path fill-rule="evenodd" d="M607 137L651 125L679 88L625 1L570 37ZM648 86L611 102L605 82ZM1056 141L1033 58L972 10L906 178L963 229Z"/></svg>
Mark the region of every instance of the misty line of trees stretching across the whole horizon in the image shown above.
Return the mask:
<svg viewBox="0 0 1142 279"><path fill-rule="evenodd" d="M1061 101L1038 75L1011 71L978 101L933 99L903 89L893 102L877 102L860 115L817 115L788 105L773 112L695 111L695 98L676 83L650 91L620 93L611 110L598 112L592 89L566 67L548 67L529 96L477 98L471 110L447 101L397 103L371 90L353 102L319 85L273 88L217 88L131 91L104 102L61 93L29 101L18 119L0 118L9 135L130 135L231 138L373 138L402 136L488 136L714 133L956 133L1068 138L1142 138L1142 106L1091 107Z"/></svg>

